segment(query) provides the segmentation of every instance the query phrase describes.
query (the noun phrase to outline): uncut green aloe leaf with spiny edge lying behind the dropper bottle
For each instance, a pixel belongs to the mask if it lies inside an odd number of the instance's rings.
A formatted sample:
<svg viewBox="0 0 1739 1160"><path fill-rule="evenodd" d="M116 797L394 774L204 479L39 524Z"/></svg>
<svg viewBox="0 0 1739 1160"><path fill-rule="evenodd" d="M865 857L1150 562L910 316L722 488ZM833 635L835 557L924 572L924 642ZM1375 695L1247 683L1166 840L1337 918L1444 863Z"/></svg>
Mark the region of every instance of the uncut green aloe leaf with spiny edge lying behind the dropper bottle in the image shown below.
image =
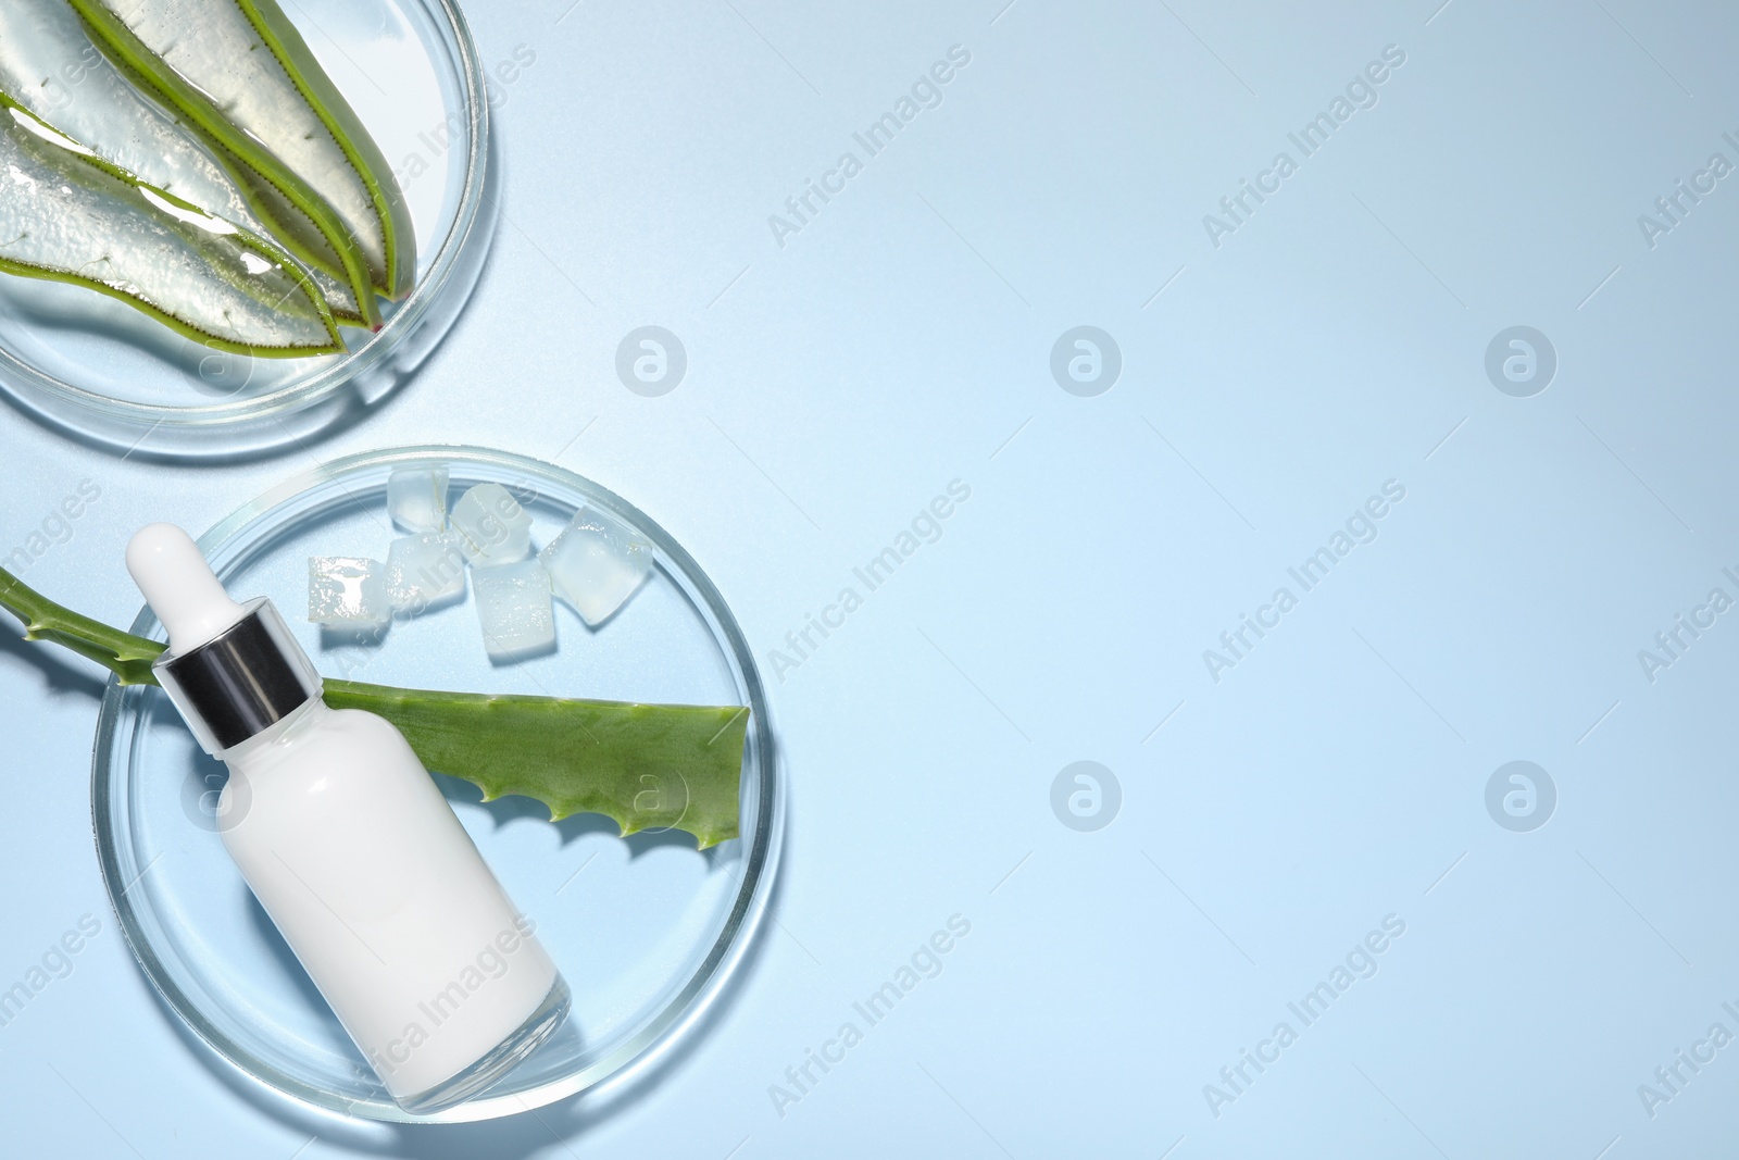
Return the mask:
<svg viewBox="0 0 1739 1160"><path fill-rule="evenodd" d="M163 645L64 609L0 569L0 609L47 640L108 668L122 685L155 685ZM483 800L523 795L551 819L591 812L623 835L692 833L699 849L737 837L737 788L750 711L569 697L391 689L325 682L325 703L393 722L428 769Z"/></svg>

